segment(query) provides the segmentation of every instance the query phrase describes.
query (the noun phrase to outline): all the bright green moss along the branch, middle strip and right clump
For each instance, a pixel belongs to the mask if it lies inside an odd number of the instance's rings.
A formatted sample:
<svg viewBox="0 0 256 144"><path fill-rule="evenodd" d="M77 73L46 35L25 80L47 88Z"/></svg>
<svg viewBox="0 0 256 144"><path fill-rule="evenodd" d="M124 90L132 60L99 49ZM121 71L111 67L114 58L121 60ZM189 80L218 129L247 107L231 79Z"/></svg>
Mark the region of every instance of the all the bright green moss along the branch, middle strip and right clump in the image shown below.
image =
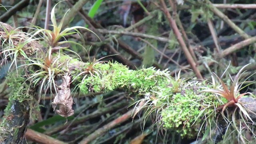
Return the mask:
<svg viewBox="0 0 256 144"><path fill-rule="evenodd" d="M206 86L205 82L172 78L168 72L153 67L129 70L122 64L111 62L96 64L94 69L100 74L88 75L80 84L82 92L122 89L144 96L144 101L148 102L144 105L145 116L157 112L162 126L182 137L198 136L200 126L205 122L203 118L216 120L214 108L220 106L221 102L213 94L200 93Z"/></svg>

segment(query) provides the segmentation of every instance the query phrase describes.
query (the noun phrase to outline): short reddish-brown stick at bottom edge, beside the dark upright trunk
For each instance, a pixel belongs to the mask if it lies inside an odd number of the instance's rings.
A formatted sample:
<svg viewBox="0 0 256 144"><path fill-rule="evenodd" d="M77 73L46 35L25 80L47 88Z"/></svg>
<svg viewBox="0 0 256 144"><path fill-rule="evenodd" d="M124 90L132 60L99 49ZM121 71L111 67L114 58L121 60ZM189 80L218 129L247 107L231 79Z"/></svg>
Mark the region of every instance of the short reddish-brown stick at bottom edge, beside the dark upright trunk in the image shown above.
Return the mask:
<svg viewBox="0 0 256 144"><path fill-rule="evenodd" d="M31 140L32 142L36 142L38 144L67 144L31 129L27 129L25 136L27 140Z"/></svg>

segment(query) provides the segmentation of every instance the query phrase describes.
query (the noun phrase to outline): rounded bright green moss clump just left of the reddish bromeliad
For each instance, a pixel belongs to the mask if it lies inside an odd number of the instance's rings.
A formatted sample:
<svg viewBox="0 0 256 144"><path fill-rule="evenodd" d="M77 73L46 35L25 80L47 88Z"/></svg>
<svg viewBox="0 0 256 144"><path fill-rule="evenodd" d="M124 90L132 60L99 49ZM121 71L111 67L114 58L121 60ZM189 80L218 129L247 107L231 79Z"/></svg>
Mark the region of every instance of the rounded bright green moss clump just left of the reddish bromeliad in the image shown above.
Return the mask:
<svg viewBox="0 0 256 144"><path fill-rule="evenodd" d="M183 90L171 94L172 98L169 101L159 101L161 104L168 103L161 112L164 127L176 130L182 137L197 136L202 125L202 118L210 116L214 112L214 106L219 105L213 94L199 94L201 89L198 86L202 86L202 83L181 85Z"/></svg>

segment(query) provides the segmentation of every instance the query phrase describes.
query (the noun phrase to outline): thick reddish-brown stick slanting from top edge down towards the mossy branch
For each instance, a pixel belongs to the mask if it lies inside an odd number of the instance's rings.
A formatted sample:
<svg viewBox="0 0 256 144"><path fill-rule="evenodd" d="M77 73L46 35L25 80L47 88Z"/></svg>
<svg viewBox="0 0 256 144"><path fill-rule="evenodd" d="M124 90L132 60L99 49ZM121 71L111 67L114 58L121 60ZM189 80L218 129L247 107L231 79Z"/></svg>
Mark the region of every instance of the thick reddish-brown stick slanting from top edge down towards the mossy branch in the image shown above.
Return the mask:
<svg viewBox="0 0 256 144"><path fill-rule="evenodd" d="M164 14L166 15L169 23L170 23L170 27L172 28L174 34L176 35L177 37L177 40L180 44L180 47L182 48L182 51L184 52L187 60L188 60L188 63L190 64L190 66L192 67L192 69L194 70L194 73L196 74L197 78L199 79L203 79L200 71L198 70L198 68L196 68L196 63L194 61L194 59L192 58L190 52L188 51L188 48L180 34L180 31L178 30L178 26L176 25L176 22L175 20L171 17L169 11L167 10L167 7L166 7L166 4L164 2L164 0L160 0L163 8L164 8Z"/></svg>

